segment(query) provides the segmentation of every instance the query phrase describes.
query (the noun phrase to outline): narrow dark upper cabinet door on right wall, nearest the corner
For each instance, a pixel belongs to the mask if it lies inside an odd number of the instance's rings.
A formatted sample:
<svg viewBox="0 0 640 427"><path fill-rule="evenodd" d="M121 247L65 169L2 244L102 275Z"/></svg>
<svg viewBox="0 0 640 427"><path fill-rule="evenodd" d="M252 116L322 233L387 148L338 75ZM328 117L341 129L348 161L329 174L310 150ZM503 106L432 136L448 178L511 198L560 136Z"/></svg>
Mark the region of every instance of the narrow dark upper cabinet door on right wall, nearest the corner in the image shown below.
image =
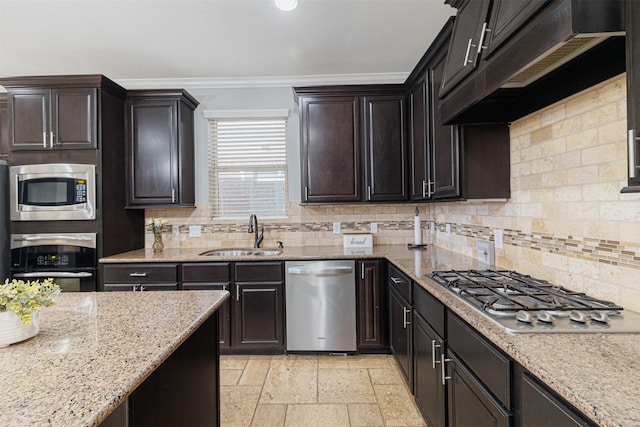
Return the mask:
<svg viewBox="0 0 640 427"><path fill-rule="evenodd" d="M409 92L409 141L411 144L411 200L429 199L431 150L427 138L428 87L426 74Z"/></svg>

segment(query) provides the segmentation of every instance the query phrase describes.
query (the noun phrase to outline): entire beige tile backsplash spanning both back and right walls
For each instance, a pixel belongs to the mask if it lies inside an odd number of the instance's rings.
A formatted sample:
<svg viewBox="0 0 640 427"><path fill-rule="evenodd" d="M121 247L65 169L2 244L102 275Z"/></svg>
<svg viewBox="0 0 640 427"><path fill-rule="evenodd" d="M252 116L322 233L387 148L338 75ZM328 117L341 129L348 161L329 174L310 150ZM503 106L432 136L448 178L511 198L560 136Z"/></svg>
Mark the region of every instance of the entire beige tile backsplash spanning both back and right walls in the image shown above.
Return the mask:
<svg viewBox="0 0 640 427"><path fill-rule="evenodd" d="M626 184L626 86L618 76L511 125L511 198L506 202L421 204L425 240L475 256L478 239L504 234L496 249L501 268L536 275L640 311L640 194L621 194ZM368 231L376 243L413 241L409 205L301 207L288 220L264 220L265 246L341 245L332 233ZM209 206L148 210L180 225L165 237L168 247L250 246L246 221L212 221ZM202 226L189 237L188 225ZM445 233L451 224L450 235ZM147 234L147 246L151 237Z"/></svg>

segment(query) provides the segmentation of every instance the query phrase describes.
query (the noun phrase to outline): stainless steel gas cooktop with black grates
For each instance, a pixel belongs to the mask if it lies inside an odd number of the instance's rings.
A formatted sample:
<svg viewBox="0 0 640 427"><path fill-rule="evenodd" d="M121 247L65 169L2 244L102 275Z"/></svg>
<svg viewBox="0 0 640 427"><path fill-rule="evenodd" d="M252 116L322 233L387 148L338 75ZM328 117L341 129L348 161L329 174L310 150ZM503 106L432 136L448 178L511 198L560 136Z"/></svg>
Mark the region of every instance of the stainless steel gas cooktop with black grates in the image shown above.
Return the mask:
<svg viewBox="0 0 640 427"><path fill-rule="evenodd" d="M434 271L431 278L508 332L640 333L638 313L515 271Z"/></svg>

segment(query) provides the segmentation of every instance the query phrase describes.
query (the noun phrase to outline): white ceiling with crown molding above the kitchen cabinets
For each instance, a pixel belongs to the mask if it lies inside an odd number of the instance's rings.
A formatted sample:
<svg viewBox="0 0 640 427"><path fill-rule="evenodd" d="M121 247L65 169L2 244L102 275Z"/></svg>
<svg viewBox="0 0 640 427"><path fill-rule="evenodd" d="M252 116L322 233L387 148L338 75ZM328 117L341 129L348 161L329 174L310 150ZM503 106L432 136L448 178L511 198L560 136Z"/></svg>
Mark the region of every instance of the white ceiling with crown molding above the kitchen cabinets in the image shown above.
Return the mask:
<svg viewBox="0 0 640 427"><path fill-rule="evenodd" d="M444 0L0 0L0 76L104 74L127 88L401 82Z"/></svg>

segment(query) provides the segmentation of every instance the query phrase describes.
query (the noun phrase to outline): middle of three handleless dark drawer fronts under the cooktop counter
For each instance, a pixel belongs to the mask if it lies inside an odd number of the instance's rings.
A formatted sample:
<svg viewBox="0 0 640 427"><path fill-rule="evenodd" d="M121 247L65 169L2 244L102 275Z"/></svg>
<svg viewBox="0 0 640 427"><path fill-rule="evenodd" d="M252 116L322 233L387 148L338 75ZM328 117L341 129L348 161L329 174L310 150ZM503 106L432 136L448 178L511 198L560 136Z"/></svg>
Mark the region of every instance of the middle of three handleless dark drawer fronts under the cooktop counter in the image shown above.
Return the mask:
<svg viewBox="0 0 640 427"><path fill-rule="evenodd" d="M447 316L447 343L487 389L506 408L512 409L511 359L450 312Z"/></svg>

